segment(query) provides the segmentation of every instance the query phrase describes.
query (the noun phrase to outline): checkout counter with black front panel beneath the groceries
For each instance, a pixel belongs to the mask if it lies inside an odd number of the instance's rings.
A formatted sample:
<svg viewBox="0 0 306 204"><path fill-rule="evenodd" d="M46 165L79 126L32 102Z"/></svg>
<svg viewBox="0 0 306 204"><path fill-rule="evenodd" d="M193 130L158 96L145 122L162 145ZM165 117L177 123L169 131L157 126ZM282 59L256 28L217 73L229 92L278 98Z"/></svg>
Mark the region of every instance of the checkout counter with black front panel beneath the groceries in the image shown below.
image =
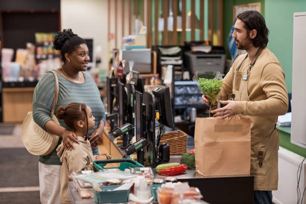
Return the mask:
<svg viewBox="0 0 306 204"><path fill-rule="evenodd" d="M172 130L177 130L174 127ZM166 131L171 131L167 129ZM111 154L112 159L122 158L124 149L114 143L110 133L104 132L102 141L99 144L99 151ZM186 150L194 148L193 137L187 135ZM169 162L180 162L181 155L170 155ZM155 178L165 176L154 172ZM202 176L195 169L188 169L186 173L175 175L178 181L188 182L189 186L198 187L203 195L203 200L208 203L253 203L254 176L251 175L223 175L223 176ZM68 183L68 192L72 203L95 203L93 198L81 198L73 185Z"/></svg>

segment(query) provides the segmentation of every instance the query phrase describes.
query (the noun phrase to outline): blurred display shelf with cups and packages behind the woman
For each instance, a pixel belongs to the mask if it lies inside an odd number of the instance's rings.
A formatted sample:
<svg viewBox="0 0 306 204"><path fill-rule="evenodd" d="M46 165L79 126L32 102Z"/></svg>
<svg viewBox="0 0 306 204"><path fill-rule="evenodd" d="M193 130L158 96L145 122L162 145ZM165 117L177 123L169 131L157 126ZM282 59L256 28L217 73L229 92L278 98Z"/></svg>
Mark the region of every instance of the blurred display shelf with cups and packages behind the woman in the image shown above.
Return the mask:
<svg viewBox="0 0 306 204"><path fill-rule="evenodd" d="M1 121L21 122L32 109L33 91L38 80L46 71L60 64L54 55L49 55L54 31L61 29L59 7L43 10L2 10L0 24ZM43 40L36 41L35 33L38 31L51 33L41 37L46 38L48 43ZM37 50L36 47L41 48ZM37 51L46 55L37 56Z"/></svg>

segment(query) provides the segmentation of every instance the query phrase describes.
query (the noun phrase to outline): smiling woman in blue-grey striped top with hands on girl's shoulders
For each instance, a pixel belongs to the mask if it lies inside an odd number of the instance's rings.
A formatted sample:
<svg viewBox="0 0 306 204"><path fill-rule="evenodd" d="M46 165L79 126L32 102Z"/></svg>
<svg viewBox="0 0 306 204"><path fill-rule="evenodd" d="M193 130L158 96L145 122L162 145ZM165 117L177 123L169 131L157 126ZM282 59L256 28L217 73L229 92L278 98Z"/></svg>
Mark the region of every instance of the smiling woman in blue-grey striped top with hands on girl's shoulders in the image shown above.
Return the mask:
<svg viewBox="0 0 306 204"><path fill-rule="evenodd" d="M95 117L94 129L87 137L94 155L98 155L97 144L102 138L105 124L104 105L99 90L92 77L84 72L89 61L86 42L71 29L63 29L54 37L54 48L60 50L63 64L55 69L58 77L58 106L65 107L71 102L85 103L92 109ZM63 143L66 149L72 149L72 142L79 143L77 136L60 120L57 125L49 116L54 98L54 76L46 73L37 83L33 95L33 119L47 132L58 135L57 146ZM55 113L56 115L56 113ZM56 146L56 147L57 147ZM55 147L55 149L56 149ZM56 150L45 156L39 156L39 187L41 203L59 203L59 175L61 162Z"/></svg>

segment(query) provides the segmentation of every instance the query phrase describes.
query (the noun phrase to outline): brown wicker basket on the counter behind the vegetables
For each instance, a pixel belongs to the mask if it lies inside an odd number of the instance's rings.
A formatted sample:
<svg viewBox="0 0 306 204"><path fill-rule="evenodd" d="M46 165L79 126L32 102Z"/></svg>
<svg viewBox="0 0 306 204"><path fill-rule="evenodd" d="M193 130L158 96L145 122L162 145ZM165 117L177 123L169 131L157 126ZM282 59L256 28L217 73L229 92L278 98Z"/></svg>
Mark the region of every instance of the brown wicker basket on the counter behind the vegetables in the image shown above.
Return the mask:
<svg viewBox="0 0 306 204"><path fill-rule="evenodd" d="M183 154L186 153L187 134L181 130L167 132L163 134L159 143L168 143L170 154Z"/></svg>

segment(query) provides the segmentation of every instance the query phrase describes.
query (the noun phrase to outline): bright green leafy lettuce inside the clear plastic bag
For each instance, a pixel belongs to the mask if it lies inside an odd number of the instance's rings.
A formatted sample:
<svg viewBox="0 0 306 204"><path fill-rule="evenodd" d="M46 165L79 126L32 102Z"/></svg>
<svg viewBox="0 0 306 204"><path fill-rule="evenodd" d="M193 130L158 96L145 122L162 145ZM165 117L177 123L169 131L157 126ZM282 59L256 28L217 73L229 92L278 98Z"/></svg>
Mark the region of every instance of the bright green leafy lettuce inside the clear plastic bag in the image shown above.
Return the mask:
<svg viewBox="0 0 306 204"><path fill-rule="evenodd" d="M215 104L223 81L216 78L198 78L198 82L201 91L208 97L209 104Z"/></svg>

